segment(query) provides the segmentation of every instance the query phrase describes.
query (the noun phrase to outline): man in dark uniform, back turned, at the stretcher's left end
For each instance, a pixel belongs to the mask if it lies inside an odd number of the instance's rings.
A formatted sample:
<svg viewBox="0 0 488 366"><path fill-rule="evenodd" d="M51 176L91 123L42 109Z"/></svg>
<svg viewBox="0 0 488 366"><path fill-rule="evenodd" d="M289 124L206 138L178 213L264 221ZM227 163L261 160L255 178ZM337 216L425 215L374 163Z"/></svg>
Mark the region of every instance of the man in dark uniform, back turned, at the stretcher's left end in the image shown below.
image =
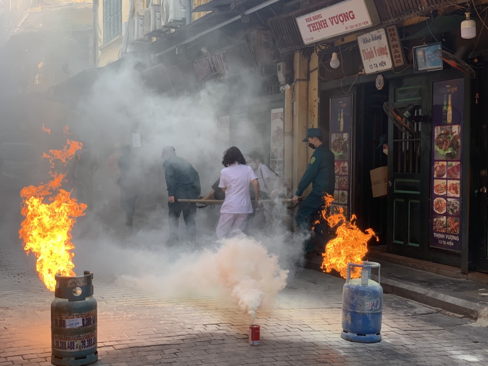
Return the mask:
<svg viewBox="0 0 488 366"><path fill-rule="evenodd" d="M168 220L170 236L168 242L178 242L178 221L181 212L185 220L187 240L194 241L197 236L195 203L178 202L179 199L200 198L200 176L187 160L176 156L173 146L165 146L161 155L163 171L168 189Z"/></svg>

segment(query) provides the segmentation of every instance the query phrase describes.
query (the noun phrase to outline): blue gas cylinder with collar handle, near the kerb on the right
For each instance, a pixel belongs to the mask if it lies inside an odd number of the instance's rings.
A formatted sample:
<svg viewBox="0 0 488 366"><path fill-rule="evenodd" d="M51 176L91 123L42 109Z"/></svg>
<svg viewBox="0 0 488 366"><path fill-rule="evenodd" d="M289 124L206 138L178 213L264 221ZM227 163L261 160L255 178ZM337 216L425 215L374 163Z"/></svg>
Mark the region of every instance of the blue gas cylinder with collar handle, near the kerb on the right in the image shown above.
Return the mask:
<svg viewBox="0 0 488 366"><path fill-rule="evenodd" d="M361 278L351 280L351 267L361 268ZM372 268L378 268L378 282L371 280ZM381 341L383 288L379 282L379 263L347 264L347 278L342 292L341 338L359 343Z"/></svg>

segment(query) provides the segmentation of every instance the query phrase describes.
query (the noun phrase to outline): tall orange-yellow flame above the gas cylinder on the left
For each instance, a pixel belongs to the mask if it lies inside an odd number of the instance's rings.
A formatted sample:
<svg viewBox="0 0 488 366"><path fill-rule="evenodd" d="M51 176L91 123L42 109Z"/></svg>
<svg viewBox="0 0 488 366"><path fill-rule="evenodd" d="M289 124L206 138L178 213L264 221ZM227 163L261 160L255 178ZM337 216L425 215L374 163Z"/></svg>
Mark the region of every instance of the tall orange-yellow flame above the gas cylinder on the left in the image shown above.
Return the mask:
<svg viewBox="0 0 488 366"><path fill-rule="evenodd" d="M71 159L81 143L67 141L63 150L49 150L48 158L51 167L55 159L66 163ZM73 268L75 248L71 242L71 228L76 222L75 218L84 215L86 204L78 203L71 198L71 192L60 187L65 178L64 174L51 172L53 179L47 184L38 187L29 186L20 191L23 199L21 214L25 217L19 230L23 241L23 248L27 255L33 252L37 258L36 269L40 279L47 289L54 291L56 280L54 276L76 276ZM54 191L57 190L57 193ZM45 202L47 198L50 203Z"/></svg>

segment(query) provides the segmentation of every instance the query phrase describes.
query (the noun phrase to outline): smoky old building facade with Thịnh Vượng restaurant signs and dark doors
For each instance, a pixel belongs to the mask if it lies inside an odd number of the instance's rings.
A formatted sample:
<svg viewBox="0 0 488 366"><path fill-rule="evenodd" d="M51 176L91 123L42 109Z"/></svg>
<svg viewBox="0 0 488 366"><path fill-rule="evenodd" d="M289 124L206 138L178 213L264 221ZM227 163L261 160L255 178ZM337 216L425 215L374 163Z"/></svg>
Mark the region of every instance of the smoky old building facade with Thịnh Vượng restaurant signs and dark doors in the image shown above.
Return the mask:
<svg viewBox="0 0 488 366"><path fill-rule="evenodd" d="M228 145L259 145L291 192L312 153L301 140L320 128L336 157L334 205L389 253L488 271L487 6L99 0L96 65L133 57L150 87L176 97L236 85L219 116ZM259 138L242 142L242 126Z"/></svg>

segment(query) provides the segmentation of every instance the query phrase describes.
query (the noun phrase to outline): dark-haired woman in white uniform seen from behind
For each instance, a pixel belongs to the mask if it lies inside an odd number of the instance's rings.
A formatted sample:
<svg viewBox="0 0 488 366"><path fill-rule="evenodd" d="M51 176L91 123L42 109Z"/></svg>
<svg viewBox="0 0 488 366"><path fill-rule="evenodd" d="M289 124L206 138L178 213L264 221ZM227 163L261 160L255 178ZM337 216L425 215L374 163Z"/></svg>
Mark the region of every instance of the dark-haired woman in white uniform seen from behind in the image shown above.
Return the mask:
<svg viewBox="0 0 488 366"><path fill-rule="evenodd" d="M249 186L254 188L254 198L259 202L259 182L253 169L246 165L240 150L232 146L227 149L222 159L225 166L220 172L219 187L225 193L225 200L220 209L217 225L217 238L221 239L234 229L243 231L246 228L248 214L252 214L253 205Z"/></svg>

